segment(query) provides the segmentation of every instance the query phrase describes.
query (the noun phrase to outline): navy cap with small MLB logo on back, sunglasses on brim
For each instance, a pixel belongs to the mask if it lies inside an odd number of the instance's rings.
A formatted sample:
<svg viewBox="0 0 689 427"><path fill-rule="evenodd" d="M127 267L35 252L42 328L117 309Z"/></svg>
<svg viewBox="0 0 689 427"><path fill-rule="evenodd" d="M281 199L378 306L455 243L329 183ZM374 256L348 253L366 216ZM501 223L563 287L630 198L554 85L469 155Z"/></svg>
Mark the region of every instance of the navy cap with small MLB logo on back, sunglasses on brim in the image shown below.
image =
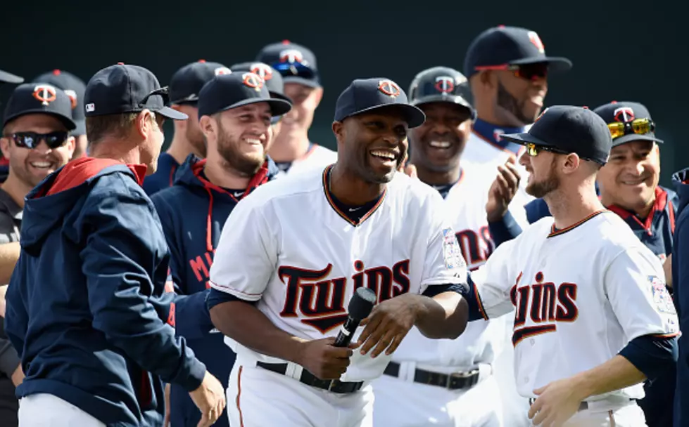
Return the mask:
<svg viewBox="0 0 689 427"><path fill-rule="evenodd" d="M151 110L168 119L186 120L187 114L166 107L167 86L139 65L110 65L91 77L84 93L86 117Z"/></svg>

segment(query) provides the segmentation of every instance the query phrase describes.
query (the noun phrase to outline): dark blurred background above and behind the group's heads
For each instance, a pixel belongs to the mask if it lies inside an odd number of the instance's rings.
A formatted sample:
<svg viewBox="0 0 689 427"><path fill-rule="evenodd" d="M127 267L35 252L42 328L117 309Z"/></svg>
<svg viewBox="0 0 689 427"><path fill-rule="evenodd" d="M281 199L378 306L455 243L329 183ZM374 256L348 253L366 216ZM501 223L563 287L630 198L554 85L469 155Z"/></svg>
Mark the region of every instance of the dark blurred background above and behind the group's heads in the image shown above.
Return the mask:
<svg viewBox="0 0 689 427"><path fill-rule="evenodd" d="M2 7L0 68L26 79L60 68L87 81L102 67L123 62L148 67L167 84L177 68L191 61L203 58L229 67L252 60L265 44L289 39L317 55L325 91L310 137L334 147L335 100L352 79L388 77L407 88L426 67L461 71L476 34L495 25L516 25L538 32L549 55L574 63L571 72L552 75L546 105L593 108L610 100L636 100L649 108L665 140L661 182L668 185L673 171L689 166L684 129L689 37L681 4L13 2ZM11 86L2 87L0 100L9 91Z"/></svg>

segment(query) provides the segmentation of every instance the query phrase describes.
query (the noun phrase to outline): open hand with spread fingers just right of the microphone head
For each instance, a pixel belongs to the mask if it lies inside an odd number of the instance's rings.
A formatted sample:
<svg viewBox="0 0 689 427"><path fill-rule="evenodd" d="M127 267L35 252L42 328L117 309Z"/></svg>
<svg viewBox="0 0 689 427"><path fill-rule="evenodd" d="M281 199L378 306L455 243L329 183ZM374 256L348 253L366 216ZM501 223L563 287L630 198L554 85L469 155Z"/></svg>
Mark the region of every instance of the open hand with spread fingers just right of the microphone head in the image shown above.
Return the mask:
<svg viewBox="0 0 689 427"><path fill-rule="evenodd" d="M371 357L377 357L385 350L390 355L397 350L402 340L414 326L422 305L415 294L403 294L377 304L359 324L365 326L359 336L358 346L365 355L373 348ZM375 346L375 348L374 348Z"/></svg>

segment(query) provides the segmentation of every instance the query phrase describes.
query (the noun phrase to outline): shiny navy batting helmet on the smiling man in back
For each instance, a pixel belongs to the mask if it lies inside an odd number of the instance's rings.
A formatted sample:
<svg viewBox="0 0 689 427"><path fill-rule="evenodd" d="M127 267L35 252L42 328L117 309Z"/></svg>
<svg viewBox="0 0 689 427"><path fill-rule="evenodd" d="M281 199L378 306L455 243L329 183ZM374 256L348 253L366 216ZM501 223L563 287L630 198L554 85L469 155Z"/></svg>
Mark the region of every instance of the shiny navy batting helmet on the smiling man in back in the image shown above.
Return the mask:
<svg viewBox="0 0 689 427"><path fill-rule="evenodd" d="M464 74L450 67L432 67L414 77L409 88L412 105L426 103L450 103L461 105L469 110L472 119L476 110L472 106L472 90Z"/></svg>

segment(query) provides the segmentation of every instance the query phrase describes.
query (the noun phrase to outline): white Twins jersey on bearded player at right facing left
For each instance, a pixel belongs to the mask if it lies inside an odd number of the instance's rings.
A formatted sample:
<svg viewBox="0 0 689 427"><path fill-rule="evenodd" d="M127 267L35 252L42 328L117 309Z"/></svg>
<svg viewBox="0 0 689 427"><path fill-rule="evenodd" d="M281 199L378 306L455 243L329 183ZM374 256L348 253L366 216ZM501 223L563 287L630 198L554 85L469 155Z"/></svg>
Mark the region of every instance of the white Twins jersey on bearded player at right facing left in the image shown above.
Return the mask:
<svg viewBox="0 0 689 427"><path fill-rule="evenodd" d="M487 317L514 310L515 377L524 397L607 362L638 336L678 333L660 261L610 211L564 230L542 218L501 244L472 279ZM609 394L643 398L643 386Z"/></svg>

